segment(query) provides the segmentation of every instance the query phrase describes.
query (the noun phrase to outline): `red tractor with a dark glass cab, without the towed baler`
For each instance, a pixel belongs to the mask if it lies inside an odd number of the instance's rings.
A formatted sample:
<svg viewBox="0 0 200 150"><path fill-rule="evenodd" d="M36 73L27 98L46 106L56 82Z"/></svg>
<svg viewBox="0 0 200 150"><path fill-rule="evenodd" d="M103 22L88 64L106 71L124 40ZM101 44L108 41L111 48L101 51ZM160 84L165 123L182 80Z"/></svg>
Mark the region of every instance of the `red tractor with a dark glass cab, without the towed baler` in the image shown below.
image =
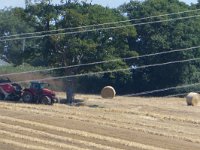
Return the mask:
<svg viewBox="0 0 200 150"><path fill-rule="evenodd" d="M22 94L22 100L25 103L42 103L45 105L52 105L57 102L55 92L45 88L49 86L48 83L31 82L29 88L25 88Z"/></svg>

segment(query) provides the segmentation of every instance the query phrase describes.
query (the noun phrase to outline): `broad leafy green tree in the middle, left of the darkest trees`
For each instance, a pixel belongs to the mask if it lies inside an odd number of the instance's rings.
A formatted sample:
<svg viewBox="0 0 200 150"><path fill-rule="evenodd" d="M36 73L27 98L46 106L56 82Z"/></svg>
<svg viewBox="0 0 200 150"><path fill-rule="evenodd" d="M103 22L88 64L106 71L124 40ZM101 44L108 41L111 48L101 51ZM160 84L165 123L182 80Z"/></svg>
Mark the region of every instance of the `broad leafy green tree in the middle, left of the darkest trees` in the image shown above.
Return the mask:
<svg viewBox="0 0 200 150"><path fill-rule="evenodd" d="M63 6L61 6L61 8L63 8ZM104 8L99 5L90 5L87 3L71 3L64 5L63 9L63 19L59 22L59 26L61 26L62 28L88 26L94 24L102 24L105 22L116 22L126 19L117 10ZM55 44L55 51L57 55L54 57L60 60L60 62L56 60L56 62L60 63L57 65L67 66L136 56L137 53L133 49L131 49L129 45L129 39L136 36L135 29L133 27L119 28L114 30L105 29L109 28L110 26L111 25L89 26L87 28L83 27L75 31L80 32L78 34L58 36L57 39L59 40ZM112 26L115 27L116 25ZM92 32L88 31L81 33L84 30L92 30ZM74 30L72 30L71 32L74 32ZM66 72L69 74L77 74L90 71L97 72L128 67L129 64L121 60L119 61L119 63L93 65L70 70L68 69L66 70ZM122 84L126 84L128 80L130 80L131 76L130 72L124 72L105 74L94 78L94 80L98 80L99 82L88 82L88 80L85 80L85 86L90 87L85 89L96 89L96 91L99 91L99 88L101 87L100 85L105 86L106 84L112 84L117 88L120 88ZM99 86L96 86L96 88L91 88L93 86L95 87L94 83L101 84L99 84Z"/></svg>

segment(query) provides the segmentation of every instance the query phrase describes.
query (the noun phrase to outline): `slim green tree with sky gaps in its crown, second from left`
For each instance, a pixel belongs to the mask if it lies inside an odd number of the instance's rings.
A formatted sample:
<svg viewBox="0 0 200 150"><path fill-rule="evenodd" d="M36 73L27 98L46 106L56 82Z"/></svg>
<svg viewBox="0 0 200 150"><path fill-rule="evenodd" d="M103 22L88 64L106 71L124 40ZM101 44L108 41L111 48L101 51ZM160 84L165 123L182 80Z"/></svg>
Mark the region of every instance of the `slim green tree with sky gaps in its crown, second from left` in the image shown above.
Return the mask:
<svg viewBox="0 0 200 150"><path fill-rule="evenodd" d="M56 29L58 13L56 7L51 4L51 0L39 0L36 4L32 3L26 7L24 20L26 20L35 31L46 31L46 33L48 33L48 31ZM44 34L44 32L42 34ZM51 57L54 51L52 38L45 36L42 40L38 39L35 40L35 42L37 43L35 55L40 56L34 59L34 62L41 62L38 64L43 64L45 66L51 65Z"/></svg>

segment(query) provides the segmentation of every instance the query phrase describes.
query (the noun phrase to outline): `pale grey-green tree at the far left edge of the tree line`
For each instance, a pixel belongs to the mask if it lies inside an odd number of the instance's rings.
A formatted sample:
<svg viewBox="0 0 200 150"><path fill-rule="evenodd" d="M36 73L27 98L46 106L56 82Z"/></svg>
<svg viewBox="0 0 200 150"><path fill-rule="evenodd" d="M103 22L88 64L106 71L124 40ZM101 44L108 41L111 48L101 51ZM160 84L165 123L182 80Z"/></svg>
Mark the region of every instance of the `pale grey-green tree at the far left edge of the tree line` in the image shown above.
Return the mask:
<svg viewBox="0 0 200 150"><path fill-rule="evenodd" d="M5 40L5 36L32 32L30 27L22 18L24 10L21 8L9 8L0 11L0 36ZM10 37L10 38L17 38ZM9 38L8 38L9 39ZM27 43L28 44L28 43ZM11 40L0 42L1 54L7 53L9 62L16 65L21 64L23 60L23 40ZM7 51L7 52L5 52Z"/></svg>

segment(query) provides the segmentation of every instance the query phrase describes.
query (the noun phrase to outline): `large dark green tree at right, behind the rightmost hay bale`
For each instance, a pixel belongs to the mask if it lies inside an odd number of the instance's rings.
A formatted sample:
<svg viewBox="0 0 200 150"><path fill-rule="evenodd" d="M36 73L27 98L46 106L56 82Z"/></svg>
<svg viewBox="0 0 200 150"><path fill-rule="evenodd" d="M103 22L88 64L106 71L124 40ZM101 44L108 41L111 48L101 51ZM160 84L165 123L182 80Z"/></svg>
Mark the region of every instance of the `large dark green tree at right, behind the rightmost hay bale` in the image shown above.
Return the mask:
<svg viewBox="0 0 200 150"><path fill-rule="evenodd" d="M178 0L145 0L142 2L131 1L121 6L121 10L127 13L130 19L156 16L189 10L192 7ZM197 15L198 12L174 14L164 17L156 17L142 20L141 22L153 22L167 19L175 19L185 16ZM133 22L133 23L139 23ZM189 48L197 46L199 42L198 17L184 20L164 21L135 26L137 37L132 41L137 52L150 54L174 49ZM138 61L138 65L148 65L177 61L199 57L198 50L176 52L162 56L149 57ZM170 86L177 86L199 81L198 62L171 64L166 66L146 68L133 71L133 86L135 91L154 90ZM161 93L163 94L163 93Z"/></svg>

